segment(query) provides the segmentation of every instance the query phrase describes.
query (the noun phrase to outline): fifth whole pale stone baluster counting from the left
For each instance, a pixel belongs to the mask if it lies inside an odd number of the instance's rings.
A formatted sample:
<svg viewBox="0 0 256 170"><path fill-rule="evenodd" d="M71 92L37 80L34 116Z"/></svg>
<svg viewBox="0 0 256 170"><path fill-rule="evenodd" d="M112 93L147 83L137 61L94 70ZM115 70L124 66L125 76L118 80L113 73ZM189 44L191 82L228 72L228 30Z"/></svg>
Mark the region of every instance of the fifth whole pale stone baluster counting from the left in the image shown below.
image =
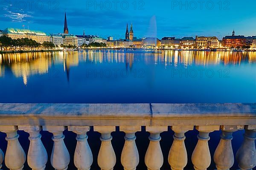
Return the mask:
<svg viewBox="0 0 256 170"><path fill-rule="evenodd" d="M98 164L101 170L113 170L116 164L116 154L111 144L111 132L115 130L115 126L94 126L94 131L101 133L102 143L98 155Z"/></svg>

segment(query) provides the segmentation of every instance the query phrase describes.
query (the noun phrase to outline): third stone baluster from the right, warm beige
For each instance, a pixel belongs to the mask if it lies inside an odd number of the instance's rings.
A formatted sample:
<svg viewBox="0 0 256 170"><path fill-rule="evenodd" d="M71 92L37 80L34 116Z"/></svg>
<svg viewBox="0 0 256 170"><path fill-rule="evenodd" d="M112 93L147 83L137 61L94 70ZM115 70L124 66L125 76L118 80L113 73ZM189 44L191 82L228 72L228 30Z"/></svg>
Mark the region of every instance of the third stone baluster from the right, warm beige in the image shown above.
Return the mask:
<svg viewBox="0 0 256 170"><path fill-rule="evenodd" d="M209 133L219 130L220 126L196 126L199 131L198 143L192 153L192 163L195 170L206 170L211 164L211 155L209 151L208 141Z"/></svg>

